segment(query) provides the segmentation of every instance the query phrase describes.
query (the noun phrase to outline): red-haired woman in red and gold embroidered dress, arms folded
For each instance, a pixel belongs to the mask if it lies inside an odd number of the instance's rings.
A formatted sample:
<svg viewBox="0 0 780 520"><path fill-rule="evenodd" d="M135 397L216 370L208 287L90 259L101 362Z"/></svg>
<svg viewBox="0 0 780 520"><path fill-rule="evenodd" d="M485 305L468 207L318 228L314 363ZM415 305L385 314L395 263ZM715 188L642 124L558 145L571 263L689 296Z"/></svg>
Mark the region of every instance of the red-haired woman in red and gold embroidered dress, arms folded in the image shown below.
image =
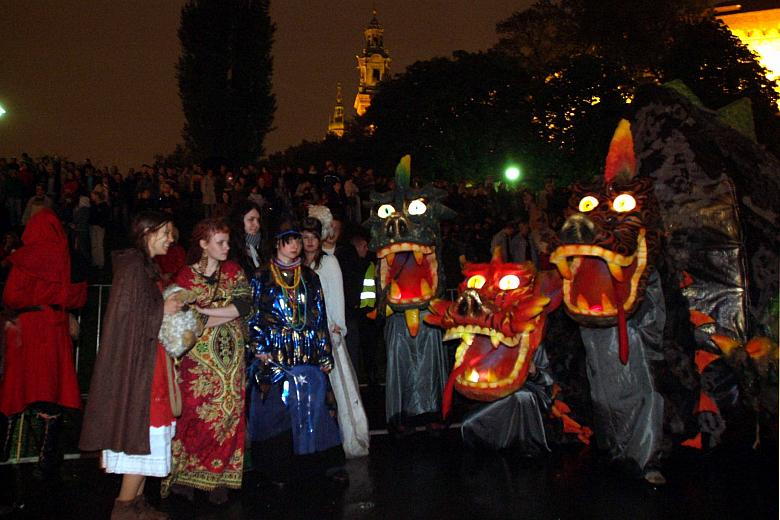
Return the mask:
<svg viewBox="0 0 780 520"><path fill-rule="evenodd" d="M182 415L173 440L173 471L163 482L190 500L194 490L223 503L241 488L244 461L244 323L252 308L241 266L227 260L228 224L206 219L193 231L187 266L173 282L196 293L203 334L179 366Z"/></svg>

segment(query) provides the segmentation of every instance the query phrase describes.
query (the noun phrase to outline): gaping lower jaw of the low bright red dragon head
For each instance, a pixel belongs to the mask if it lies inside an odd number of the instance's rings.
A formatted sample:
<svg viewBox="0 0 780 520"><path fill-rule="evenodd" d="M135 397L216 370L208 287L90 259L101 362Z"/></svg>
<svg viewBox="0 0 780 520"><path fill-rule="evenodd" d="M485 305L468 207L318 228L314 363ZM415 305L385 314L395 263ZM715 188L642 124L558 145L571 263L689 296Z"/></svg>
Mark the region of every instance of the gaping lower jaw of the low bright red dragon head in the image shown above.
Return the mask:
<svg viewBox="0 0 780 520"><path fill-rule="evenodd" d="M489 332L462 334L455 353L455 388L469 399L494 401L516 392L525 383L536 350L527 333L511 338L515 347L507 348L504 344L495 347L499 333ZM449 331L447 335L452 337Z"/></svg>

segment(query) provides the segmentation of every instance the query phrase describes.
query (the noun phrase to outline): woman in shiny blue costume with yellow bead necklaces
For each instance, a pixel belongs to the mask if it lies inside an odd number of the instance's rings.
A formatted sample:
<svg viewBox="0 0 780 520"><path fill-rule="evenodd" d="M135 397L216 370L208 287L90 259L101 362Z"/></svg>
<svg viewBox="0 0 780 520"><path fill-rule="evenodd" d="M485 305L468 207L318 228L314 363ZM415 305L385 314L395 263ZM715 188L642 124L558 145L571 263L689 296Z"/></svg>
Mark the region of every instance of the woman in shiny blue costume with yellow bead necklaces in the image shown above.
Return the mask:
<svg viewBox="0 0 780 520"><path fill-rule="evenodd" d="M332 402L327 402L325 375L333 356L320 281L302 265L297 229L283 225L275 240L273 259L252 280L255 314L249 335L256 353L248 367L248 431L254 467L282 488L293 469L292 474L308 477L340 468L342 454Z"/></svg>

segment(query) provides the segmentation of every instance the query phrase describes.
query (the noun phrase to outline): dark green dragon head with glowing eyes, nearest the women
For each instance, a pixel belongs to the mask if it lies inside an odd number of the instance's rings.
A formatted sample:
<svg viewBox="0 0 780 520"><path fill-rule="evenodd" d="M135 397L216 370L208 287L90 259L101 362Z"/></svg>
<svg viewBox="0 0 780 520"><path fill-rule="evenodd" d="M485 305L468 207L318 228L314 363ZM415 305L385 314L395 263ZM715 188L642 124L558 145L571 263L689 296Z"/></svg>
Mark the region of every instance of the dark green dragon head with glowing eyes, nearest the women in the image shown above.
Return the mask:
<svg viewBox="0 0 780 520"><path fill-rule="evenodd" d="M409 333L416 336L420 310L443 288L439 221L455 212L439 202L444 191L410 187L410 165L410 156L404 156L395 170L395 189L371 195L374 209L366 224L379 263L380 304L404 312Z"/></svg>

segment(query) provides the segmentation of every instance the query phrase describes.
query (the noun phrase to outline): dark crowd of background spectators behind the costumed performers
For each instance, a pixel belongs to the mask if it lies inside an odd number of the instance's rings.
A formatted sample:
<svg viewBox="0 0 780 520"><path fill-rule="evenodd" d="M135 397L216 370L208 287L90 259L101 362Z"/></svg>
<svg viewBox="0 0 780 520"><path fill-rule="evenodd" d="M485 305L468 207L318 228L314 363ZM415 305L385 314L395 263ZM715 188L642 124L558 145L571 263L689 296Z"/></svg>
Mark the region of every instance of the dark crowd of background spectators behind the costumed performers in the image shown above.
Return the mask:
<svg viewBox="0 0 780 520"><path fill-rule="evenodd" d="M487 261L493 249L505 249L513 261L532 260L545 268L548 230L562 222L566 192L548 182L534 194L502 183L435 181L447 192L445 204L458 217L442 223L447 285L460 281L460 261ZM390 174L370 168L324 165L271 170L254 164L230 168L143 164L120 173L100 166L56 157L0 158L0 262L19 245L19 237L35 206L52 208L62 220L71 248L94 268L91 279L107 281L110 254L126 245L133 215L156 209L174 216L181 237L188 237L202 217L227 217L235 203L250 200L263 209L267 235L280 220L301 216L312 204L330 208L343 223L348 240L361 232L371 211L371 192L394 187ZM7 265L2 267L2 275Z"/></svg>

